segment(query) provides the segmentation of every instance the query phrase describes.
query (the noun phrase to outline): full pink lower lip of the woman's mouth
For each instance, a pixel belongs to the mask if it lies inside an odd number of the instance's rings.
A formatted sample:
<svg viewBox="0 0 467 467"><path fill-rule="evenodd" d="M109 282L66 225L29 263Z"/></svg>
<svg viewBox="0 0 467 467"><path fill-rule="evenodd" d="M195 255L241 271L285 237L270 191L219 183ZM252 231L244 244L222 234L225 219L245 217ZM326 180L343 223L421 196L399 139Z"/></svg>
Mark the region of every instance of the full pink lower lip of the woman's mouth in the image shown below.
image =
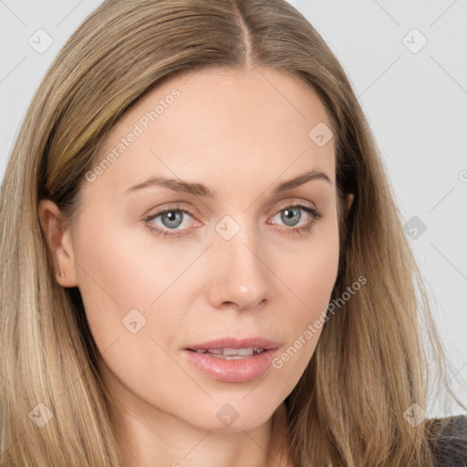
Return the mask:
<svg viewBox="0 0 467 467"><path fill-rule="evenodd" d="M258 355L236 360L211 357L193 350L184 349L183 355L210 378L225 383L245 383L262 376L277 353L277 348L269 348Z"/></svg>

